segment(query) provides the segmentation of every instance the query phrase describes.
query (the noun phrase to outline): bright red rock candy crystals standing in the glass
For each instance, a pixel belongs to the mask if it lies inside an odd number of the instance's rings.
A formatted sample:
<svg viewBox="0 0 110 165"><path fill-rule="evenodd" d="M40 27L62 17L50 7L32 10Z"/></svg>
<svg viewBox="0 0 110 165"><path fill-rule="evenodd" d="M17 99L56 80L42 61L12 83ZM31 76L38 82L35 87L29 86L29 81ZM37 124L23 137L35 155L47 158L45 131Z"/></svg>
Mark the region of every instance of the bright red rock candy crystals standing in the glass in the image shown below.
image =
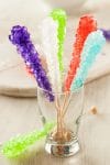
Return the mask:
<svg viewBox="0 0 110 165"><path fill-rule="evenodd" d="M66 91L69 90L73 79L75 78L77 68L79 67L80 63L80 53L84 47L84 43L88 36L88 34L92 31L97 30L97 22L90 15L85 15L80 18L79 26L76 32L76 38L73 48L73 57L69 65L69 70L66 77L66 81L64 88Z"/></svg>

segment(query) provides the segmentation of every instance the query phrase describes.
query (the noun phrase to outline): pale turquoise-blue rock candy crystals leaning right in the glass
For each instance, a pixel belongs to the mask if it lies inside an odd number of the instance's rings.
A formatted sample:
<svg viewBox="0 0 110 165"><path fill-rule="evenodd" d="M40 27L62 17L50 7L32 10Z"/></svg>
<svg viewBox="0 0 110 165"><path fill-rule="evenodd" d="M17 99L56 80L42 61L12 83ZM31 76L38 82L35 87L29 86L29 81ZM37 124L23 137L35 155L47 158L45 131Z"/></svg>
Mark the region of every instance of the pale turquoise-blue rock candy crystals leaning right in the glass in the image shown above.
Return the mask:
<svg viewBox="0 0 110 165"><path fill-rule="evenodd" d="M80 88L84 85L88 72L105 43L106 40L103 37L103 34L99 30L88 35L81 53L81 62L79 64L79 68L70 86L72 91Z"/></svg>

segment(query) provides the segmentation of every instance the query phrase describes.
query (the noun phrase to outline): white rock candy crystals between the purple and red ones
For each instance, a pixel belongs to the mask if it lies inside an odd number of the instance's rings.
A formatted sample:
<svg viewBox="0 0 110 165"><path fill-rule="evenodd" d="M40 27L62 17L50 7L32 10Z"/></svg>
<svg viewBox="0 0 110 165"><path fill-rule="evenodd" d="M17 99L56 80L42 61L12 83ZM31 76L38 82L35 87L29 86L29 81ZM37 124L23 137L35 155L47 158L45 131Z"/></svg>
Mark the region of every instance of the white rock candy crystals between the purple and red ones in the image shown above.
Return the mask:
<svg viewBox="0 0 110 165"><path fill-rule="evenodd" d="M42 44L45 52L48 76L54 91L62 91L62 77L57 61L57 23L47 18L42 23Z"/></svg>

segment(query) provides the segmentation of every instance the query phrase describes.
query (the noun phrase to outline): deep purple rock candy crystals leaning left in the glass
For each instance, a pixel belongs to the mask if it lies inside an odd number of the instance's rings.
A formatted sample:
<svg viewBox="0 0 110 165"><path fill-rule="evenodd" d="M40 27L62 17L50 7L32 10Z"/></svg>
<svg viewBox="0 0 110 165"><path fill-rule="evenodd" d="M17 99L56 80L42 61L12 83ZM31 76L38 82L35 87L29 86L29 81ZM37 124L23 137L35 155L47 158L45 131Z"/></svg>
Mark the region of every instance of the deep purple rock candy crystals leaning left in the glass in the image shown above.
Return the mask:
<svg viewBox="0 0 110 165"><path fill-rule="evenodd" d="M26 66L31 68L37 85L45 90L45 96L50 101L54 101L51 84L46 77L44 68L42 67L38 53L30 38L30 33L26 28L20 25L13 26L9 40L16 46L16 50L23 57Z"/></svg>

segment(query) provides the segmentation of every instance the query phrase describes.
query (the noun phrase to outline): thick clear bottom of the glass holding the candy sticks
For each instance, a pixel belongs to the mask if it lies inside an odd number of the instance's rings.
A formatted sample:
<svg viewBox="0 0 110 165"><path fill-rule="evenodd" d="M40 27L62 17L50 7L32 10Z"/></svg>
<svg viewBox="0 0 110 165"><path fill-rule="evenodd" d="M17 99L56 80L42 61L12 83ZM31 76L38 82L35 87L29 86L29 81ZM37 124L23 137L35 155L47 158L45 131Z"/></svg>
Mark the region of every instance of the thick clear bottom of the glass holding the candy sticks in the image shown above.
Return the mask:
<svg viewBox="0 0 110 165"><path fill-rule="evenodd" d="M46 139L45 151L54 156L68 157L78 153L79 150L78 139L75 136L69 142L65 143L56 142L51 136Z"/></svg>

